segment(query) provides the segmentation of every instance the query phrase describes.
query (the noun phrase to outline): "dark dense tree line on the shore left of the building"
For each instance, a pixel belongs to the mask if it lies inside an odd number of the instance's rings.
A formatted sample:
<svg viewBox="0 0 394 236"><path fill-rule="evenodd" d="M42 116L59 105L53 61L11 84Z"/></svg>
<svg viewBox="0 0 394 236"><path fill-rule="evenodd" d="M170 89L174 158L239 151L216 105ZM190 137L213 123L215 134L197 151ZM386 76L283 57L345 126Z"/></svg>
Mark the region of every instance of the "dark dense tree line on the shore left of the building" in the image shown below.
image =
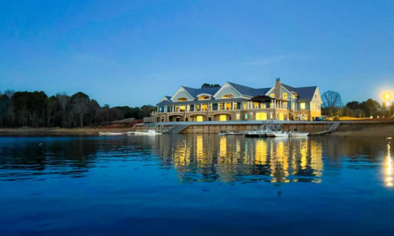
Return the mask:
<svg viewBox="0 0 394 236"><path fill-rule="evenodd" d="M48 97L43 91L0 92L1 127L83 127L127 118L148 117L156 107L101 106L87 94L58 93Z"/></svg>

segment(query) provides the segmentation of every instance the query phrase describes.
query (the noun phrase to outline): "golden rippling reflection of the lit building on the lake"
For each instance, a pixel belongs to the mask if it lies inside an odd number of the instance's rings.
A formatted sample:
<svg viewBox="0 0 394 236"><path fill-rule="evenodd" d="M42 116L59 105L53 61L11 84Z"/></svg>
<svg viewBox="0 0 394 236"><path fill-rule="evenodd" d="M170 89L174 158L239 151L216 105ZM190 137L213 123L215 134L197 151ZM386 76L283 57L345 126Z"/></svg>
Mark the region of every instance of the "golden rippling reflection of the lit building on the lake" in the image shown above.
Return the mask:
<svg viewBox="0 0 394 236"><path fill-rule="evenodd" d="M320 183L323 175L322 143L307 137L166 137L157 152L182 181Z"/></svg>

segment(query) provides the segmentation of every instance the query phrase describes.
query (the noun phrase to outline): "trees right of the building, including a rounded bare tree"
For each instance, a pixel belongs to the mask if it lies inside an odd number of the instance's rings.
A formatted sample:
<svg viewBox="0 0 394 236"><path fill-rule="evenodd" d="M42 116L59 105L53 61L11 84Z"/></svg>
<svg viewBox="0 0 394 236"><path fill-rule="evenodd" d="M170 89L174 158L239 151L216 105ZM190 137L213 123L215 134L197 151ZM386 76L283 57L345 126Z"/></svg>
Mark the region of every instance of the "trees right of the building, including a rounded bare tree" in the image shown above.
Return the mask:
<svg viewBox="0 0 394 236"><path fill-rule="evenodd" d="M387 107L386 103L380 104L371 98L366 101L350 101L346 105L342 102L341 95L336 91L326 91L322 94L322 115L349 116L349 117L388 117L394 111L394 104Z"/></svg>

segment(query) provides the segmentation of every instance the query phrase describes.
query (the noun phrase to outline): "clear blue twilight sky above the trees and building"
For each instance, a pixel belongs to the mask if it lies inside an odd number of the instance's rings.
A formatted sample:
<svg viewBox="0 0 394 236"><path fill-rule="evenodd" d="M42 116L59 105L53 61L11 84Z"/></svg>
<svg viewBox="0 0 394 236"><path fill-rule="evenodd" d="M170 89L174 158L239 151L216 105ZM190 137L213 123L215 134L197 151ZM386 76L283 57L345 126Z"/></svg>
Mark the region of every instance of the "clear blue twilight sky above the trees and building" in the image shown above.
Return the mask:
<svg viewBox="0 0 394 236"><path fill-rule="evenodd" d="M394 87L394 1L0 2L0 91L82 91L155 104L225 81L337 90Z"/></svg>

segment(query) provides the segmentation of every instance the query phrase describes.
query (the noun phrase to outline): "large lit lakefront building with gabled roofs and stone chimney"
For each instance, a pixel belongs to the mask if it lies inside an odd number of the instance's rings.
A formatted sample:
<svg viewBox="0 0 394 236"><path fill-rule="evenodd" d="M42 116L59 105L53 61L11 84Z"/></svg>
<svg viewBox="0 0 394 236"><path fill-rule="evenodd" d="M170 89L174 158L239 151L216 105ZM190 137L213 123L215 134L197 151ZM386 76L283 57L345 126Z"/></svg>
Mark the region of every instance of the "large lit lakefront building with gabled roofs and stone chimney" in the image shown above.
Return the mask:
<svg viewBox="0 0 394 236"><path fill-rule="evenodd" d="M152 121L314 120L321 105L317 86L294 88L279 78L264 89L231 82L204 89L182 86L157 103Z"/></svg>

